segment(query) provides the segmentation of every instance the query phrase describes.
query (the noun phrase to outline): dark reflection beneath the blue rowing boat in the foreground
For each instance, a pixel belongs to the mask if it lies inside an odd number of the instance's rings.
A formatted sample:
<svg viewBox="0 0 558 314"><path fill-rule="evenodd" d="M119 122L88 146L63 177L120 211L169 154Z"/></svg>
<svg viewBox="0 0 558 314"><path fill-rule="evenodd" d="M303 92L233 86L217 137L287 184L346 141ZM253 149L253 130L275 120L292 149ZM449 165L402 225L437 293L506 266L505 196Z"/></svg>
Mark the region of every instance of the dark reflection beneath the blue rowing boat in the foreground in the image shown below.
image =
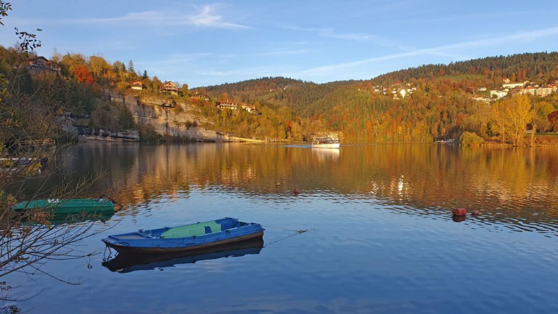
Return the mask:
<svg viewBox="0 0 558 314"><path fill-rule="evenodd" d="M222 257L240 257L259 254L264 247L263 237L246 241L213 246L182 253L133 254L119 253L112 260L103 262L110 271L129 273L130 271L151 270L160 267L174 267L176 264L193 264L200 260L217 260Z"/></svg>

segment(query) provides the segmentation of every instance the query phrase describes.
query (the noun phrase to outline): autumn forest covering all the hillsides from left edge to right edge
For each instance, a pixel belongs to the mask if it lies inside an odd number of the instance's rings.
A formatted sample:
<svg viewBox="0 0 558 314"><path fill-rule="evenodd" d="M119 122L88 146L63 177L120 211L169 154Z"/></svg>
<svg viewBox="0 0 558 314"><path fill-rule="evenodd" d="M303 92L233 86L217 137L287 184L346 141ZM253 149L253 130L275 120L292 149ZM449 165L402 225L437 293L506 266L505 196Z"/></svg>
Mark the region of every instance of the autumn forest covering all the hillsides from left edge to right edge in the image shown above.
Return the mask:
<svg viewBox="0 0 558 314"><path fill-rule="evenodd" d="M50 61L59 72L33 73L28 64L37 57L32 50L0 47L0 75L15 77L7 93L55 103L63 112L87 117L93 128L146 127L138 126L126 107L101 100L103 91L110 89L181 100L195 108L200 120L209 121L199 126L259 140L304 141L315 133L336 132L345 142L461 139L464 144L522 145L544 144L543 134L558 131L556 91L545 96L510 92L502 98L491 92L502 90L504 82L555 86L557 52L418 66L371 80L326 84L263 77L190 89L186 83L174 82L178 91L173 94L161 89L163 80L135 69L131 60L125 64L55 51ZM0 89L7 89L7 82L1 80ZM130 89L130 82L141 82L142 90ZM195 97L199 94L209 97ZM3 101L9 103L10 98ZM255 111L220 110L219 102L246 104Z"/></svg>

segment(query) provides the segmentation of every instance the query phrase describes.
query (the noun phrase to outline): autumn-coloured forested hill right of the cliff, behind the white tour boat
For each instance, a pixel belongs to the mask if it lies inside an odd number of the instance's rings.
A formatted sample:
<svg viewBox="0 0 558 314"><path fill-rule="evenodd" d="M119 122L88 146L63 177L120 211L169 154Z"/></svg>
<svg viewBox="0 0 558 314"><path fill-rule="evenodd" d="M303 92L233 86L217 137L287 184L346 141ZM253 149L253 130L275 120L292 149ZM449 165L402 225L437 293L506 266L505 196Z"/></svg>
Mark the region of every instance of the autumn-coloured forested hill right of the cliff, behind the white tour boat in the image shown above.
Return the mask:
<svg viewBox="0 0 558 314"><path fill-rule="evenodd" d="M504 130L492 121L495 98L490 90L504 90L504 82L525 81L531 82L525 87L552 89L557 77L558 52L540 52L418 66L372 80L315 84L265 77L206 91L217 99L270 108L276 112L274 121L280 121L278 128L285 128L277 133L287 138L297 138L298 130L327 129L341 131L346 140L365 142L430 142L464 132L506 142ZM540 116L538 131L554 130L546 116L558 110L557 94L529 97Z"/></svg>

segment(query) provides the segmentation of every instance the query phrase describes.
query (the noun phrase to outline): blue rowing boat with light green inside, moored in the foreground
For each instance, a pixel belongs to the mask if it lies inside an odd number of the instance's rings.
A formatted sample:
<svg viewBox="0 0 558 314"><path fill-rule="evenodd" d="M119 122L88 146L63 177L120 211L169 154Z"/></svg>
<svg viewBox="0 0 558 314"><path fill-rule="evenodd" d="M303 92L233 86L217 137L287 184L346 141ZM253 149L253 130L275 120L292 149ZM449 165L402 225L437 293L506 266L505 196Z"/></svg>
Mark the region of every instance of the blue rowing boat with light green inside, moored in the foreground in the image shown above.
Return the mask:
<svg viewBox="0 0 558 314"><path fill-rule="evenodd" d="M110 235L103 242L119 253L170 253L220 246L263 235L262 225L227 217L204 223Z"/></svg>

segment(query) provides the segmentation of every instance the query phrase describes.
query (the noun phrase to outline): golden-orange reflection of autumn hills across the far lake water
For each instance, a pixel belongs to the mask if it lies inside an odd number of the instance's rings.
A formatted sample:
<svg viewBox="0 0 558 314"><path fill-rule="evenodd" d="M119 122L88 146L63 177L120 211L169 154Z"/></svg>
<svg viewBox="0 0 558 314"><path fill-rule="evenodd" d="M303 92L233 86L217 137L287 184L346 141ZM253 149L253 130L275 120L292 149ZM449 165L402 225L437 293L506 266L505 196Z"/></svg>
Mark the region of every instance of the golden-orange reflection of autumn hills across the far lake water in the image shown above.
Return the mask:
<svg viewBox="0 0 558 314"><path fill-rule="evenodd" d="M91 189L118 191L122 204L160 195L186 197L216 188L253 197L337 197L409 214L446 215L478 209L484 219L527 230L550 228L558 217L558 150L465 148L456 145L348 145L323 151L252 144L87 144L68 159L77 174L105 169ZM552 231L555 232L555 231Z"/></svg>

